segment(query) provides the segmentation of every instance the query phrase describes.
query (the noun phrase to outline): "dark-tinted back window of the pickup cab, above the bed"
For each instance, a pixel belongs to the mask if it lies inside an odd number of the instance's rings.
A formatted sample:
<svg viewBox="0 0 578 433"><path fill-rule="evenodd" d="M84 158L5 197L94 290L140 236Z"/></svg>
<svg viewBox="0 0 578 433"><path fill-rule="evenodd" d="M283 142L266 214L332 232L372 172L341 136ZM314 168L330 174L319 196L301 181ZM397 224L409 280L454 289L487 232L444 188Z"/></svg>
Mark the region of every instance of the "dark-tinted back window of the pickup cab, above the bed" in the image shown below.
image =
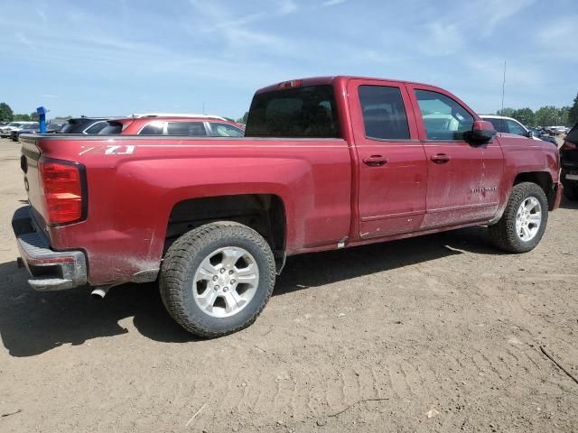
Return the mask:
<svg viewBox="0 0 578 433"><path fill-rule="evenodd" d="M257 94L251 103L245 136L339 137L333 88L309 86Z"/></svg>

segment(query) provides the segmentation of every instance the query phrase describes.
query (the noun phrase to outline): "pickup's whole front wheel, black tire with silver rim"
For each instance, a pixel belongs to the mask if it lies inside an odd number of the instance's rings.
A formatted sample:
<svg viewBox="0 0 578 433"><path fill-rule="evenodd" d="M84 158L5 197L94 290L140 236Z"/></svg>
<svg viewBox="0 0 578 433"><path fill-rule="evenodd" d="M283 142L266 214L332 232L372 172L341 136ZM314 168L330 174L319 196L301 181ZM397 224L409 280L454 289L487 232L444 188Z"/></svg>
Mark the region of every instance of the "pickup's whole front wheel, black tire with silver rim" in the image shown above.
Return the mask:
<svg viewBox="0 0 578 433"><path fill-rule="evenodd" d="M492 242L508 253L527 253L542 239L548 221L548 200L536 183L518 183L512 189L504 215L489 226Z"/></svg>

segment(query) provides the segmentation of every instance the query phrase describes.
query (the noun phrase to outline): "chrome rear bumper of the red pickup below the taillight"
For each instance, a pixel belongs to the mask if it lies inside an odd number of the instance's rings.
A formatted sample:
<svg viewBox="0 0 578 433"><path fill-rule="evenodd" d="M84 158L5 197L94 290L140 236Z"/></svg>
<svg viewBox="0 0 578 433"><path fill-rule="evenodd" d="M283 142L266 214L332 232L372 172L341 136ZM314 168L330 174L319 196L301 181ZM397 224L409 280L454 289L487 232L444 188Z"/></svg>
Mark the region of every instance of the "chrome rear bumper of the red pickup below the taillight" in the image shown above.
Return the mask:
<svg viewBox="0 0 578 433"><path fill-rule="evenodd" d="M65 290L87 283L86 257L81 251L52 251L41 230L36 229L31 207L14 212L12 227L22 263L32 278L28 284L39 291Z"/></svg>

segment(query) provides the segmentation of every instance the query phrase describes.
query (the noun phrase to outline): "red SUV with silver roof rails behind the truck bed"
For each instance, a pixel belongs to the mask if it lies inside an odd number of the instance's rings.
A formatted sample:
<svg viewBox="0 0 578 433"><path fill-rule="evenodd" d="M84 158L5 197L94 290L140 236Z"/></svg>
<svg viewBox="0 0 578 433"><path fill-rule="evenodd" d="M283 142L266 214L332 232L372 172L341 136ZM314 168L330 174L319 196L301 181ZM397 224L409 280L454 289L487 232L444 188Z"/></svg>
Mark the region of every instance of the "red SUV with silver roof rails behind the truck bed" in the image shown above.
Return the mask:
<svg viewBox="0 0 578 433"><path fill-rule="evenodd" d="M108 120L108 125L98 134L242 137L245 128L210 115L135 115Z"/></svg>

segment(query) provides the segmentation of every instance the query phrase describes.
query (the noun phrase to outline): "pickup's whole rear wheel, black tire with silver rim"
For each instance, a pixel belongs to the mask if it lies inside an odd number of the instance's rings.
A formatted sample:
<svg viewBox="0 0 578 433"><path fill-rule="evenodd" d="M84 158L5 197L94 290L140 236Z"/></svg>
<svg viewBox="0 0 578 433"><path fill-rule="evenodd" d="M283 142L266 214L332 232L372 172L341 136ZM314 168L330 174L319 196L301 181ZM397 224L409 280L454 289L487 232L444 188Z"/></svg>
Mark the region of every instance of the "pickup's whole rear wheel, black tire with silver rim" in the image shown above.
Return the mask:
<svg viewBox="0 0 578 433"><path fill-rule="evenodd" d="M275 285L275 259L255 230L211 223L182 235L164 256L163 304L197 336L225 336L252 324Z"/></svg>

